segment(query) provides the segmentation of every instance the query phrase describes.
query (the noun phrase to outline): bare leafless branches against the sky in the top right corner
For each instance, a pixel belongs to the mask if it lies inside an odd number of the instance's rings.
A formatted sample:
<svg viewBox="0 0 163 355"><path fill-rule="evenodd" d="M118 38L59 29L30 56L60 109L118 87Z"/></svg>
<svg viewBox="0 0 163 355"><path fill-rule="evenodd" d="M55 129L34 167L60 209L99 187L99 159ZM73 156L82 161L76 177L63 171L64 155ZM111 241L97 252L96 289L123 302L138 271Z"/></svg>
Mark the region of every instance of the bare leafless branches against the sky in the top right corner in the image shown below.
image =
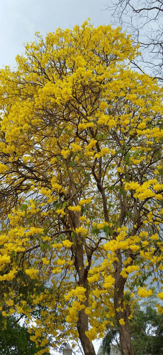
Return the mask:
<svg viewBox="0 0 163 355"><path fill-rule="evenodd" d="M112 24L132 34L140 43L141 55L131 63L163 82L163 1L109 0L105 7L111 12Z"/></svg>

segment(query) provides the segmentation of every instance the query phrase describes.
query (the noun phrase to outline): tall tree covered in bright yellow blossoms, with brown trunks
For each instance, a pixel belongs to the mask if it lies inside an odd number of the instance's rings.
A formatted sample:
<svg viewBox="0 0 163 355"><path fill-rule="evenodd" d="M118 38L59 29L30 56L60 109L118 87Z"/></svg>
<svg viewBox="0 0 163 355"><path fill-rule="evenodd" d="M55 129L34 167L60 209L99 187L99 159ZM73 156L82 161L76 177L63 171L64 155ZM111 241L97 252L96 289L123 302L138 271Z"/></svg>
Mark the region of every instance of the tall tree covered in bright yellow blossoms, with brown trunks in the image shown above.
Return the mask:
<svg viewBox="0 0 163 355"><path fill-rule="evenodd" d="M0 75L2 316L36 312L40 355L48 335L94 355L116 317L132 355L134 302L163 269L162 88L129 69L138 48L119 28L86 21L25 48Z"/></svg>

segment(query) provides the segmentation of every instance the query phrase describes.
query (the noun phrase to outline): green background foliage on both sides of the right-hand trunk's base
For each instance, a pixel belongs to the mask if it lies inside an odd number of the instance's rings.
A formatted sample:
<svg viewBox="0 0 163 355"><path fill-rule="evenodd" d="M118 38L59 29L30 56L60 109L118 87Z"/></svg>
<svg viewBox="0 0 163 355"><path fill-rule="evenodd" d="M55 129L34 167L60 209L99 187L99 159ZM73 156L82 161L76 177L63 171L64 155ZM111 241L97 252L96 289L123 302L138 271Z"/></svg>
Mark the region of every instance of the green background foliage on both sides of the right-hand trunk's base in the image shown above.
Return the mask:
<svg viewBox="0 0 163 355"><path fill-rule="evenodd" d="M129 322L134 354L159 355L163 351L163 314L156 311L155 297L149 297L140 306L134 307L133 318ZM103 353L110 355L111 345L119 347L118 325L109 327L102 340ZM115 343L117 343L115 345Z"/></svg>

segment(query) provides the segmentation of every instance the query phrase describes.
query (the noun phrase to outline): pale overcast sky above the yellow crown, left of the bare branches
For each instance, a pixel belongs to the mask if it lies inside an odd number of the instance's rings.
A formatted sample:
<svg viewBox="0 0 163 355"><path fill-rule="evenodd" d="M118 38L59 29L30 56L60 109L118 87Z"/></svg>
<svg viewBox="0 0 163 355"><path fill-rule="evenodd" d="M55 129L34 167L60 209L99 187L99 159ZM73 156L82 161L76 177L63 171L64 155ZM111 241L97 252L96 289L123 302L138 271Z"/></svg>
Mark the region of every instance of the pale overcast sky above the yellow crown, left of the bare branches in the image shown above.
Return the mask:
<svg viewBox="0 0 163 355"><path fill-rule="evenodd" d="M61 28L82 24L91 18L94 26L109 24L107 0L0 0L0 68L15 65L17 54L24 53L23 43L33 41L36 31L42 35Z"/></svg>

